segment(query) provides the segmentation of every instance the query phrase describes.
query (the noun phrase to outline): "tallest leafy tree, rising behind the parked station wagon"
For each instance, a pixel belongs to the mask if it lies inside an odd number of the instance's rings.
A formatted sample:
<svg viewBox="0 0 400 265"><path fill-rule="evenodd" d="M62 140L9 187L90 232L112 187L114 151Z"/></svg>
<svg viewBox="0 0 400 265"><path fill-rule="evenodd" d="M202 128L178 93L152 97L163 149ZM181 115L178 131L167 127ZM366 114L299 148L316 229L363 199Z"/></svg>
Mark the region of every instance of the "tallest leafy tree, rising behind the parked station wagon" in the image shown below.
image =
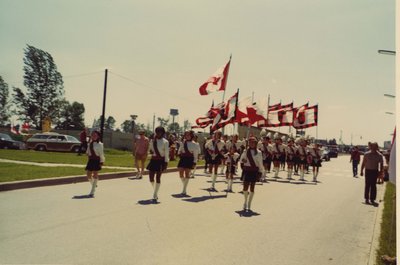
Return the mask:
<svg viewBox="0 0 400 265"><path fill-rule="evenodd" d="M14 87L17 114L42 128L45 117L55 119L59 103L63 100L64 86L53 57L43 50L27 45L24 49L24 86L26 94Z"/></svg>

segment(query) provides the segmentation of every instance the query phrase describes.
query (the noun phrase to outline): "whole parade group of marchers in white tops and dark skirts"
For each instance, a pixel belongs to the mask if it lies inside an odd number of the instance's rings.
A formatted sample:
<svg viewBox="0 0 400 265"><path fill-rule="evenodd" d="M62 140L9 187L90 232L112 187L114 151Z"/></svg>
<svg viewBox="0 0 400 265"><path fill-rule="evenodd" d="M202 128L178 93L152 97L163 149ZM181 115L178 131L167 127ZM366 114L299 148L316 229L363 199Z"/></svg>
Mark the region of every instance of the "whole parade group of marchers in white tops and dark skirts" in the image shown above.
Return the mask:
<svg viewBox="0 0 400 265"><path fill-rule="evenodd" d="M155 129L154 136L148 139L144 132L134 141L134 151L137 177L144 174L145 162L150 154L147 164L149 180L153 187L152 201L157 203L158 192L161 185L161 175L167 169L168 162L173 156L179 158L178 171L182 182L181 196L187 195L190 178L193 178L197 162L200 158L205 160L207 176L211 178L210 192L217 191L215 184L218 174L226 176L226 192L233 192L234 176L241 169L240 180L243 182L244 211L251 211L251 204L255 194L256 182L266 182L267 178L286 178L288 181L299 176L298 181L305 181L304 175L312 167L313 181L317 182L319 167L322 162L322 151L318 144L310 143L308 138L280 136L278 133L267 133L262 130L259 138L249 134L247 139L240 140L238 135L227 136L221 131L214 131L201 148L197 135L193 131L186 131L181 139L170 143L165 138L166 131L163 127ZM100 142L100 133L93 131L88 144L88 163L86 166L87 177L91 184L89 197L94 197L98 171L105 162L103 144ZM175 148L171 148L174 146ZM173 150L171 152L171 150ZM287 175L282 176L286 168ZM220 170L220 171L219 171ZM269 176L272 174L273 176Z"/></svg>

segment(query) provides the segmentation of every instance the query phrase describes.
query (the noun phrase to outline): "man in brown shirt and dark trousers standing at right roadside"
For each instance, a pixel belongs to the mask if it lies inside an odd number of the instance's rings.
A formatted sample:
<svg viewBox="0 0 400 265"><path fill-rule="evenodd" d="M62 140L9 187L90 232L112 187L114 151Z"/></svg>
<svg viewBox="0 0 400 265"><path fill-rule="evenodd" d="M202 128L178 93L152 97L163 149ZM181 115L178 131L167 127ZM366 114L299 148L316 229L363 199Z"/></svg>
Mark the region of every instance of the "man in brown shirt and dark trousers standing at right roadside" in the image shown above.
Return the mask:
<svg viewBox="0 0 400 265"><path fill-rule="evenodd" d="M365 169L364 198L366 204L376 205L376 181L383 170L383 156L378 152L378 144L371 143L370 151L365 153L361 163L361 176Z"/></svg>

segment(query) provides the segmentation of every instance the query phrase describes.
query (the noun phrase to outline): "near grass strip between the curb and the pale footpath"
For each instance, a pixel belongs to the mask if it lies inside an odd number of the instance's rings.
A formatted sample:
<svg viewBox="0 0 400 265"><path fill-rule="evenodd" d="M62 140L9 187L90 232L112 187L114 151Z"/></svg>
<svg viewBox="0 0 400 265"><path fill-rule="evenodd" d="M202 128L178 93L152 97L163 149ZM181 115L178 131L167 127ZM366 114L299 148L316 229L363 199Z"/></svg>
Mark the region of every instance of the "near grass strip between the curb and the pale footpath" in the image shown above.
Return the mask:
<svg viewBox="0 0 400 265"><path fill-rule="evenodd" d="M19 165L14 163L0 163L0 182L32 180L53 177L85 175L84 166L75 167L41 167L30 165ZM123 170L102 169L100 173L116 172Z"/></svg>

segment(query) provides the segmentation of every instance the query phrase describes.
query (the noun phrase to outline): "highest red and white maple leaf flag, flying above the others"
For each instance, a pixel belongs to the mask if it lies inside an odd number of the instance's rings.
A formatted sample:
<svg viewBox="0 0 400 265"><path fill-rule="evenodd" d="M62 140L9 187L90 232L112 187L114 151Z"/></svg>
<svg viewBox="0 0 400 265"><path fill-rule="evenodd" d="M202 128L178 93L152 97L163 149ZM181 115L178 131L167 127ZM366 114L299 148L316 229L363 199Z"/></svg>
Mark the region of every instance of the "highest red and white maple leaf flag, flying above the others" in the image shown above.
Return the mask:
<svg viewBox="0 0 400 265"><path fill-rule="evenodd" d="M229 62L227 64L219 68L212 76L210 76L210 78L208 78L208 80L204 84L200 86L200 95L205 96L215 91L225 90L230 64L231 59L229 59Z"/></svg>

